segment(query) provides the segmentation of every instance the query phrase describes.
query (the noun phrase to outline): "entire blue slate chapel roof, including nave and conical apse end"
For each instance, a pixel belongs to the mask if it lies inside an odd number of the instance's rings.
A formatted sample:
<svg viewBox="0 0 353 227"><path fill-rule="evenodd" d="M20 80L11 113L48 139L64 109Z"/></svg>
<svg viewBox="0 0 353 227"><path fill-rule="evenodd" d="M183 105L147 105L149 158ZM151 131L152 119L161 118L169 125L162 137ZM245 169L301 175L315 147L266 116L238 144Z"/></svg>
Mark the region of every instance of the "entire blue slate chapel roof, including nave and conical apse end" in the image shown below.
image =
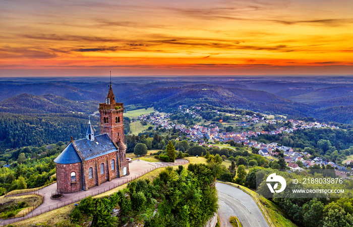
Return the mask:
<svg viewBox="0 0 353 227"><path fill-rule="evenodd" d="M117 148L110 140L109 136L105 133L95 136L93 141L88 139L80 139L71 142L69 146L67 146L65 150L63 150L63 152L54 159L55 163L73 164L82 161L73 143L79 149L85 160L90 160L92 158L117 151Z"/></svg>

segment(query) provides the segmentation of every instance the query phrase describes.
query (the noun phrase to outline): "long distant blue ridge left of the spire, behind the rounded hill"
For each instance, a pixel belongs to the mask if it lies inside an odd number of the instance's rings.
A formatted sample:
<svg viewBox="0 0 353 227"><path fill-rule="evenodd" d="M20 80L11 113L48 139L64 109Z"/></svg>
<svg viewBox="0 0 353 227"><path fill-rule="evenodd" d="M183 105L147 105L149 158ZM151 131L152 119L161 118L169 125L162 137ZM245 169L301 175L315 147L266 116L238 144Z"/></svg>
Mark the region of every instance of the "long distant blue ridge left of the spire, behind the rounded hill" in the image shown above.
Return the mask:
<svg viewBox="0 0 353 227"><path fill-rule="evenodd" d="M106 90L108 92L108 90ZM73 86L56 83L0 84L0 101L22 93L32 95L54 94L70 100L102 101L106 94L82 90Z"/></svg>

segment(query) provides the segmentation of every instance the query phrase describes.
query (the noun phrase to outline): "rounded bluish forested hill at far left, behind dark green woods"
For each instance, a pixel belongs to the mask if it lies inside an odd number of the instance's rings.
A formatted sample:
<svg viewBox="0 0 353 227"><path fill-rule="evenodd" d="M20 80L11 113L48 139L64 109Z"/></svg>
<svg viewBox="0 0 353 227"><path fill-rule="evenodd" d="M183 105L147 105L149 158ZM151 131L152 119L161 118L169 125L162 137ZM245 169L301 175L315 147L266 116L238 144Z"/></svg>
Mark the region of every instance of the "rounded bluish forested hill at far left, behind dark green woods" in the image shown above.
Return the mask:
<svg viewBox="0 0 353 227"><path fill-rule="evenodd" d="M0 112L22 113L93 113L97 110L98 101L72 101L67 98L46 95L20 94L0 102Z"/></svg>

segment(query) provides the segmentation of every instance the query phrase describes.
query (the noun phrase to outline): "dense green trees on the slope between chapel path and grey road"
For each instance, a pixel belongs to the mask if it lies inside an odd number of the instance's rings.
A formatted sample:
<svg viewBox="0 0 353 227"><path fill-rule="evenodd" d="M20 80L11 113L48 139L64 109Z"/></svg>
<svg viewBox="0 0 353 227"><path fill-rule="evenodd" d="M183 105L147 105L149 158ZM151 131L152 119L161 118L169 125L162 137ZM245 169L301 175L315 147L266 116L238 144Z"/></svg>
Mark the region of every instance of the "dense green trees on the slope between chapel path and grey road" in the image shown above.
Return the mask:
<svg viewBox="0 0 353 227"><path fill-rule="evenodd" d="M203 226L218 209L214 185L219 164L166 167L152 182L135 180L109 197L83 199L71 213L74 223L91 226Z"/></svg>

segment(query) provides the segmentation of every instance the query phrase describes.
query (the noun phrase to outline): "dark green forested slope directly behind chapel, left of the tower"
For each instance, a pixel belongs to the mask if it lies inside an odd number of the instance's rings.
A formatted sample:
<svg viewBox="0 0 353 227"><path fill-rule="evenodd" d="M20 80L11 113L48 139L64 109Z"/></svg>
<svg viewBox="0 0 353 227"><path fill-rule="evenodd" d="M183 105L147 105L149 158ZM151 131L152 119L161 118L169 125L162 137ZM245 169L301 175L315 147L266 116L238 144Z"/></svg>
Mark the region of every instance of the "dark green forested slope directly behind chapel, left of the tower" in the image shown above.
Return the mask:
<svg viewBox="0 0 353 227"><path fill-rule="evenodd" d="M98 118L91 117L95 133L100 132ZM86 137L88 116L73 113L25 116L0 113L0 151L23 146L42 146Z"/></svg>

